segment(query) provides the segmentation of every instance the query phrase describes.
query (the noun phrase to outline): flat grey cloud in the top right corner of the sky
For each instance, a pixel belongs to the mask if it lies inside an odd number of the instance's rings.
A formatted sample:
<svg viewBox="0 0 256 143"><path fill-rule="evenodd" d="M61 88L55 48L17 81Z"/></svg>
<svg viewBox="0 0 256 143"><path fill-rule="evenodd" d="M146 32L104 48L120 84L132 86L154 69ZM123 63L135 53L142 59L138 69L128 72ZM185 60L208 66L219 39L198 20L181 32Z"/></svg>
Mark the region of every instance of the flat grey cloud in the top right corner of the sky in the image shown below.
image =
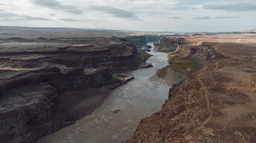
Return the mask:
<svg viewBox="0 0 256 143"><path fill-rule="evenodd" d="M229 4L207 4L203 9L208 10L224 10L224 11L256 11L256 2L239 2Z"/></svg>

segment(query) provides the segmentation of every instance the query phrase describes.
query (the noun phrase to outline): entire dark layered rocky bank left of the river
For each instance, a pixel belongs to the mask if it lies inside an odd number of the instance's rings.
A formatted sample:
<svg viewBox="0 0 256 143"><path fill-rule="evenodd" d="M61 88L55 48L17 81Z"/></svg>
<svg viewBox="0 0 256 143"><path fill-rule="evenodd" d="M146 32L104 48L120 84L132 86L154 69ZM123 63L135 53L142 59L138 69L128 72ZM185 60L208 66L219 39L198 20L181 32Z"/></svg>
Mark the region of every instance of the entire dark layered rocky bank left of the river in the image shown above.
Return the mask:
<svg viewBox="0 0 256 143"><path fill-rule="evenodd" d="M138 58L136 46L117 37L1 32L0 142L35 142L74 124L133 78L120 73L151 66Z"/></svg>

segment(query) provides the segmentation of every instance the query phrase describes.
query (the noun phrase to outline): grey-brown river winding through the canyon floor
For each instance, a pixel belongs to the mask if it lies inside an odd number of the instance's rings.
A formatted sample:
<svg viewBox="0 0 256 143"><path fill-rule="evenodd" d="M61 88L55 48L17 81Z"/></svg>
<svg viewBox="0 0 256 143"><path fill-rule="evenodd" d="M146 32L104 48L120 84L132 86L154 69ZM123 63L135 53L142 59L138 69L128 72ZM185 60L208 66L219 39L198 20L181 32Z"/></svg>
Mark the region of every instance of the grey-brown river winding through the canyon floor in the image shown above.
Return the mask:
<svg viewBox="0 0 256 143"><path fill-rule="evenodd" d="M147 44L154 48L153 42ZM167 54L153 49L148 53L153 56L146 62L153 67L129 72L135 79L113 90L94 112L38 142L122 142L131 138L140 120L160 110L168 97L168 85L151 78L168 65Z"/></svg>

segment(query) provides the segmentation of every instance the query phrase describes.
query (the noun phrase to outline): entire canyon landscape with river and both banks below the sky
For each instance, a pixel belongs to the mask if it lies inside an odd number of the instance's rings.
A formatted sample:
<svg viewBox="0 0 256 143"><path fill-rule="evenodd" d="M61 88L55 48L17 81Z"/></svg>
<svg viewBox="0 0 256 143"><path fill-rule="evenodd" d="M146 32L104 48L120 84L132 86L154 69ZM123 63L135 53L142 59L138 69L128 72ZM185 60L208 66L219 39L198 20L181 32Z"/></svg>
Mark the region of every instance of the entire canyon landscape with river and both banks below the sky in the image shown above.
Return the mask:
<svg viewBox="0 0 256 143"><path fill-rule="evenodd" d="M256 142L255 43L3 30L0 142Z"/></svg>

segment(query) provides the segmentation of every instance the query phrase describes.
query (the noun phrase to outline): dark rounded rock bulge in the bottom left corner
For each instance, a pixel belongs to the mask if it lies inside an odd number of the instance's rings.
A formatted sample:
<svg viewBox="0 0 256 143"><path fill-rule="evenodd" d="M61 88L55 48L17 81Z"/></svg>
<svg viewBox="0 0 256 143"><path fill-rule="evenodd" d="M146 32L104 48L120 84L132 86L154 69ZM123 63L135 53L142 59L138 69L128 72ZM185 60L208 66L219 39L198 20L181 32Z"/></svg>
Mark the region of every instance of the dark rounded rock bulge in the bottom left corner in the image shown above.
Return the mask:
<svg viewBox="0 0 256 143"><path fill-rule="evenodd" d="M0 141L22 136L54 117L57 94L48 83L12 89L1 98Z"/></svg>

